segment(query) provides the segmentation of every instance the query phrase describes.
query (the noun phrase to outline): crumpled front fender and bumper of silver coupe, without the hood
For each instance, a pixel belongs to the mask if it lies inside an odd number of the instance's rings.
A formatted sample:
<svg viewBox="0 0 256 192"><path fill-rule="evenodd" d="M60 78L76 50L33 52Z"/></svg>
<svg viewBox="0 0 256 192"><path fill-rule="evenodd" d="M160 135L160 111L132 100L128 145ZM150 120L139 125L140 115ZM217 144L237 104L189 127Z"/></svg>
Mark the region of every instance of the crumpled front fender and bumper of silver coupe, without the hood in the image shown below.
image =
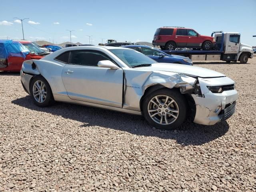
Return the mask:
<svg viewBox="0 0 256 192"><path fill-rule="evenodd" d="M140 101L149 88L179 88L182 94L189 96L193 121L198 124L213 125L229 118L235 111L238 98L236 90L230 88L221 93L213 93L209 86L234 85L226 76L200 78L165 71L124 70L123 108L140 110ZM223 83L224 82L224 83Z"/></svg>

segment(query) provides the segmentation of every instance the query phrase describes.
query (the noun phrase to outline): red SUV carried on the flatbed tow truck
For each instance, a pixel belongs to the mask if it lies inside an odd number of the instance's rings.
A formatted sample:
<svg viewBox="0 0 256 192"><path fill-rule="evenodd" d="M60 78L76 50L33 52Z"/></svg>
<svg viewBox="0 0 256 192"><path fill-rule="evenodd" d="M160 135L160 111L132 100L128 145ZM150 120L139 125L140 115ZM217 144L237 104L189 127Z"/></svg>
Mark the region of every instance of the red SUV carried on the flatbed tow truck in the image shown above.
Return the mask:
<svg viewBox="0 0 256 192"><path fill-rule="evenodd" d="M202 48L210 50L215 40L211 36L198 34L193 29L184 27L161 27L156 30L152 44L160 46L162 50L175 50L176 48Z"/></svg>

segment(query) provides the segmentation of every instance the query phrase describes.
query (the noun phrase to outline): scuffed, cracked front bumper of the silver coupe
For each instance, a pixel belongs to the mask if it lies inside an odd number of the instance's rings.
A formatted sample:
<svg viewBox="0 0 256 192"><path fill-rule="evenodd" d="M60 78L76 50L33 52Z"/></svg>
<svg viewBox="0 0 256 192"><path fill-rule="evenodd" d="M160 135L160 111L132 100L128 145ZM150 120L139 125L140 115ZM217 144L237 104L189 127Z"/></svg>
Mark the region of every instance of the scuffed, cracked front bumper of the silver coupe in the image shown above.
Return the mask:
<svg viewBox="0 0 256 192"><path fill-rule="evenodd" d="M203 97L192 94L196 104L194 122L203 125L214 125L221 120L230 118L236 109L238 92L236 90L228 90L222 93L212 93L208 89L206 92L206 86L209 84L212 85L211 79L216 82L221 78L207 78L201 81L200 78L198 79ZM222 82L229 81L229 84L234 84L228 77L222 77L222 80L224 80Z"/></svg>

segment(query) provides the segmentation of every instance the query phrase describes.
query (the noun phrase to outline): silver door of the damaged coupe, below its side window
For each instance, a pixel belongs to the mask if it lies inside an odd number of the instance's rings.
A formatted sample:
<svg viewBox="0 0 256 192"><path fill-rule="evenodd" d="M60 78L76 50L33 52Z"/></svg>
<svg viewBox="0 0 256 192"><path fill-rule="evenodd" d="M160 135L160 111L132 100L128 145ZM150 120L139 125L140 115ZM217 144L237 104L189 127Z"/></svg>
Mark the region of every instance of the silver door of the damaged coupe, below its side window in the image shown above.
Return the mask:
<svg viewBox="0 0 256 192"><path fill-rule="evenodd" d="M122 108L122 69L66 64L62 80L71 99Z"/></svg>

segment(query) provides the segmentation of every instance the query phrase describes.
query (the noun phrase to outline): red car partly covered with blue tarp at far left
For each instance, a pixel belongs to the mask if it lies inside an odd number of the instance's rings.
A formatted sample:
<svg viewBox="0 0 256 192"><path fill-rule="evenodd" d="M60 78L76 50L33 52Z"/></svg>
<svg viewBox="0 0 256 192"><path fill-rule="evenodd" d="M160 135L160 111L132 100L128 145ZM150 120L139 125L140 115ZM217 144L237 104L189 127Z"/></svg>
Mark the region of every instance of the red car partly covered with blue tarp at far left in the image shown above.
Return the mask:
<svg viewBox="0 0 256 192"><path fill-rule="evenodd" d="M0 40L0 71L20 71L25 60L38 60L42 57L17 41Z"/></svg>

